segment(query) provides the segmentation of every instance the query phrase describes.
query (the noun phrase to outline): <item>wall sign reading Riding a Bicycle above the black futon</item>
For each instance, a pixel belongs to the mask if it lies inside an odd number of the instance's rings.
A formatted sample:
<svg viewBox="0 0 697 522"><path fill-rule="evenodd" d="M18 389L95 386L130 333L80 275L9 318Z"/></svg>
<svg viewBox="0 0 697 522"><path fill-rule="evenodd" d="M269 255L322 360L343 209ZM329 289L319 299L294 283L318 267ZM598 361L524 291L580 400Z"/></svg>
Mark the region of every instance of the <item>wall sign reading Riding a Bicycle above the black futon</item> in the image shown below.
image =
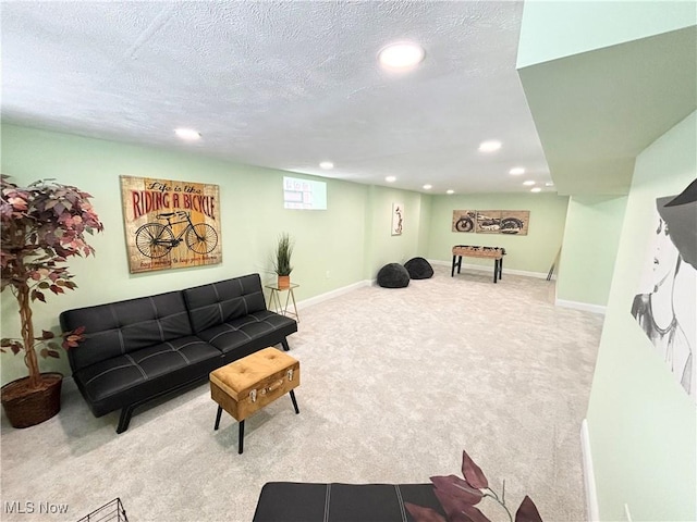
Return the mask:
<svg viewBox="0 0 697 522"><path fill-rule="evenodd" d="M131 273L222 262L218 185L121 176Z"/></svg>

